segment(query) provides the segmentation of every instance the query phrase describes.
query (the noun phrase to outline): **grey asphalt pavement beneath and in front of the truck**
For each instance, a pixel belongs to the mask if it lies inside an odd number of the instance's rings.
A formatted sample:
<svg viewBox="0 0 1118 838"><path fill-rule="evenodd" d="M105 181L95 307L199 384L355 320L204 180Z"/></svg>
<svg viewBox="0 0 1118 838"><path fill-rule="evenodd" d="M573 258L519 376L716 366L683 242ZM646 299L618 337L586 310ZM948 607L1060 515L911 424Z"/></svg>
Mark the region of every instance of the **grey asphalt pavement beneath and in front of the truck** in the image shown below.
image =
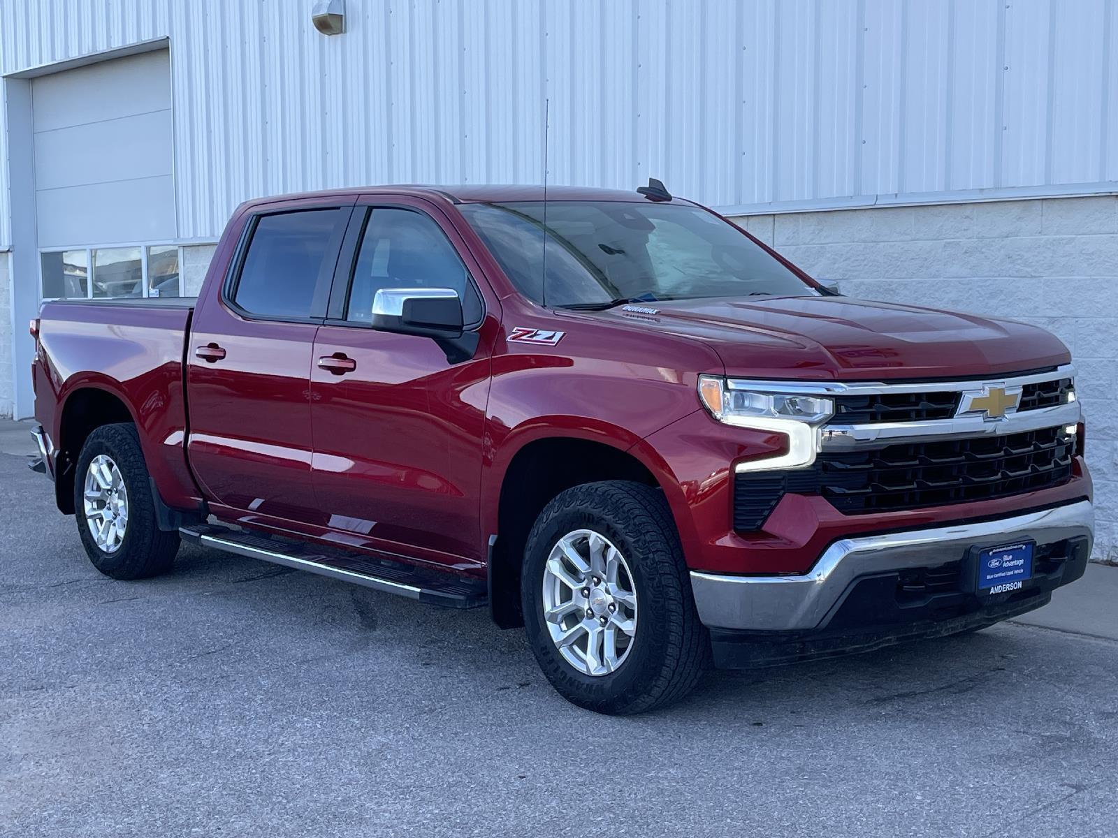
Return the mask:
<svg viewBox="0 0 1118 838"><path fill-rule="evenodd" d="M23 458L0 502L2 836L1118 835L1115 641L1003 625L609 718L483 611L193 547L115 582Z"/></svg>

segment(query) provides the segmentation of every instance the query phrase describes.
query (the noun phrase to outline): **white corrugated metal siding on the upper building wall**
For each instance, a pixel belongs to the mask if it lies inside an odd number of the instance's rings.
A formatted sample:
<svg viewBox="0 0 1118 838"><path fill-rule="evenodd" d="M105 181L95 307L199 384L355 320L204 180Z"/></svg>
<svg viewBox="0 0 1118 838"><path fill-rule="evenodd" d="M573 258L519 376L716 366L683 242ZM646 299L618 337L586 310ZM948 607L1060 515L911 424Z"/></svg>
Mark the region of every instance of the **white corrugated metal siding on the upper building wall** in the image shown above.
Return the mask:
<svg viewBox="0 0 1118 838"><path fill-rule="evenodd" d="M348 0L332 38L311 6L8 0L0 69L170 38L184 239L257 194L538 182L544 99L551 182L721 208L1118 180L1111 0Z"/></svg>

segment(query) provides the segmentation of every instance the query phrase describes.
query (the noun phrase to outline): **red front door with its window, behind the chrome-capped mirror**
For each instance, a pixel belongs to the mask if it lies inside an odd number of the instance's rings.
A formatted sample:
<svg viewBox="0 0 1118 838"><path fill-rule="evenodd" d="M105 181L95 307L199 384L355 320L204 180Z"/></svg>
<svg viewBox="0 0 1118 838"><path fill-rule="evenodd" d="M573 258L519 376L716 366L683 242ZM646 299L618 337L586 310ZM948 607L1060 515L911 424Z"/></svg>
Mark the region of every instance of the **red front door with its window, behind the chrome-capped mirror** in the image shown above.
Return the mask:
<svg viewBox="0 0 1118 838"><path fill-rule="evenodd" d="M452 363L429 337L371 326L378 289L417 287L454 288L467 328L485 325L476 266L448 235L421 202L356 209L347 237L356 255L342 257L331 299L337 317L314 343L314 486L345 543L468 568L485 559L479 496L495 327L483 330L472 360Z"/></svg>

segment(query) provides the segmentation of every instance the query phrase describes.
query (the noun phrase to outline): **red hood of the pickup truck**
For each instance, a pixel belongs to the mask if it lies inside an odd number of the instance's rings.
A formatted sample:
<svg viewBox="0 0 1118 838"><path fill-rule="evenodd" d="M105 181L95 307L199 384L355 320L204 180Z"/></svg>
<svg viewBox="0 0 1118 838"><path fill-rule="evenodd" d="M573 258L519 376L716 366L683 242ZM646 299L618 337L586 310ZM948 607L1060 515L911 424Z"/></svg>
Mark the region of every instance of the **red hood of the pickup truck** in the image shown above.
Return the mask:
<svg viewBox="0 0 1118 838"><path fill-rule="evenodd" d="M719 297L632 308L603 315L702 341L728 375L964 378L1071 360L1055 336L1025 323L849 297Z"/></svg>

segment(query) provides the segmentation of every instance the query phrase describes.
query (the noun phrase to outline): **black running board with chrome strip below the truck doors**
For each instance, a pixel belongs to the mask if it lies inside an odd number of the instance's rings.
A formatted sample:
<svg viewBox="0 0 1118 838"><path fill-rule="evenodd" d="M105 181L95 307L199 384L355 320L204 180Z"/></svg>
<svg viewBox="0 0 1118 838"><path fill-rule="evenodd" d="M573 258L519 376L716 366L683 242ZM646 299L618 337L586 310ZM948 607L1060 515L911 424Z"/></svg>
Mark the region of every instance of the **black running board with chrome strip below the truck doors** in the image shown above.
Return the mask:
<svg viewBox="0 0 1118 838"><path fill-rule="evenodd" d="M489 603L484 579L474 580L392 559L212 524L183 526L179 535L188 544L262 559L433 606L479 608Z"/></svg>

